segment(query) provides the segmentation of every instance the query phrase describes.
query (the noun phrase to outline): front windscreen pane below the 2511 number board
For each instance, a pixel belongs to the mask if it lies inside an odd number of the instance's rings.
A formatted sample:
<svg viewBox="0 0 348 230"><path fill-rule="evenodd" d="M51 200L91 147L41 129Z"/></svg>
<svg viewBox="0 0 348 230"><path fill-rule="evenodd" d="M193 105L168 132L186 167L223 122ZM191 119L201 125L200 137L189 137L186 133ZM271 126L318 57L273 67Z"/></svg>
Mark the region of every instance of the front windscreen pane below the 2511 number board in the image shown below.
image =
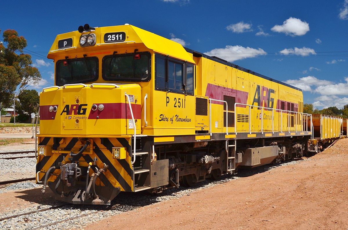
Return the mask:
<svg viewBox="0 0 348 230"><path fill-rule="evenodd" d="M151 76L151 56L149 52L134 52L104 56L102 64L104 80L109 81L149 81Z"/></svg>

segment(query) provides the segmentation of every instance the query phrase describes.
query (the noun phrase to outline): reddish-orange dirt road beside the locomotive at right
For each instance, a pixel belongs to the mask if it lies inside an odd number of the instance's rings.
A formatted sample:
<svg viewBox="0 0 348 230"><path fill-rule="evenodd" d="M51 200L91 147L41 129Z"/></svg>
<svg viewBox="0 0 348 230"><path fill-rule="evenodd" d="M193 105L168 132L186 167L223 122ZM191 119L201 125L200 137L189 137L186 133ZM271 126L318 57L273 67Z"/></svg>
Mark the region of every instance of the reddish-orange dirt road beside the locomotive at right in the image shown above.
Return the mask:
<svg viewBox="0 0 348 230"><path fill-rule="evenodd" d="M297 164L141 207L86 229L348 229L348 139Z"/></svg>

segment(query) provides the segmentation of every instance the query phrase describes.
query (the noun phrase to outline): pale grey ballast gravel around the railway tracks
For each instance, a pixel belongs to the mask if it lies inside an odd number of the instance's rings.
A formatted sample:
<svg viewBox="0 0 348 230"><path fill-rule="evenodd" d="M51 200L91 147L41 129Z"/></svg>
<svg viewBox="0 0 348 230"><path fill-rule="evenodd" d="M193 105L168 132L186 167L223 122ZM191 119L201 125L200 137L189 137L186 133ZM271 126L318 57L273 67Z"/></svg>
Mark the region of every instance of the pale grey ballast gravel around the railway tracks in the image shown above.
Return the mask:
<svg viewBox="0 0 348 230"><path fill-rule="evenodd" d="M24 160L25 159L25 160ZM34 160L33 160L34 159ZM0 175L3 170L10 171L16 173L22 173L23 171L30 172L30 175L34 175L35 172L35 158L22 158L20 161L14 160L0 160ZM310 160L310 159L306 159ZM300 160L303 161L303 160ZM0 221L0 229L35 229L41 227L40 229L84 229L87 224L102 220L111 215L117 215L119 213L129 212L132 210L136 210L137 208L144 207L147 205L153 205L158 202L162 202L169 199L179 199L182 196L189 196L192 192L200 189L206 189L209 187L213 187L216 184L225 183L234 179L239 179L241 177L250 176L253 174L270 171L275 167L288 165L288 164L296 164L299 161L291 161L286 163L281 163L277 165L267 165L258 167L252 170L239 170L238 176L234 175L224 175L221 176L221 179L218 181L206 180L204 182L197 183L196 186L187 188L187 187L179 187L178 189L168 189L162 192L161 194L148 195L146 192L137 192L137 193L121 193L119 194L112 202L110 206L102 206L102 205L72 205L67 204L64 207L42 211L38 213L22 215L18 217L14 217L8 220ZM15 166L14 166L15 164ZM11 170L7 169L11 168ZM31 176L28 176L31 177ZM17 178L19 179L19 178ZM8 192L10 190L25 190L38 188L41 185L37 185L31 182L21 182L14 183L10 186L0 189L0 193ZM47 188L49 189L49 188ZM38 198L40 199L40 198ZM30 207L18 207L17 209L13 209L8 212L4 212L0 214L0 219L4 217L9 217L13 215L18 215L22 213L32 212L44 208L49 208L52 206L62 205L64 202L60 202L57 200L51 200L46 204L37 204L32 203ZM96 211L100 211L97 213L93 213ZM78 217L84 214L91 213L90 215ZM76 219L69 220L73 217L78 217ZM62 223L48 225L50 223L54 223L57 221L66 220Z"/></svg>

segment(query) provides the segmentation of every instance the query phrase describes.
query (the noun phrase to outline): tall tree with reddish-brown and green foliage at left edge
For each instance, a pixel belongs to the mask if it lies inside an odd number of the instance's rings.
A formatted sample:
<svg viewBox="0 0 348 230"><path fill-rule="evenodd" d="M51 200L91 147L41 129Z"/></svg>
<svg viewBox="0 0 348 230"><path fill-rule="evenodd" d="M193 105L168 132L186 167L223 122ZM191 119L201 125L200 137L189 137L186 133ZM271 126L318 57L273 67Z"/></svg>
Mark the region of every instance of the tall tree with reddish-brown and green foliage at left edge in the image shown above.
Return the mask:
<svg viewBox="0 0 348 230"><path fill-rule="evenodd" d="M2 36L5 44L7 43L7 47L0 45L0 102L4 108L29 85L37 85L41 74L37 68L31 66L31 56L23 53L27 46L23 36L18 36L15 30L6 30Z"/></svg>

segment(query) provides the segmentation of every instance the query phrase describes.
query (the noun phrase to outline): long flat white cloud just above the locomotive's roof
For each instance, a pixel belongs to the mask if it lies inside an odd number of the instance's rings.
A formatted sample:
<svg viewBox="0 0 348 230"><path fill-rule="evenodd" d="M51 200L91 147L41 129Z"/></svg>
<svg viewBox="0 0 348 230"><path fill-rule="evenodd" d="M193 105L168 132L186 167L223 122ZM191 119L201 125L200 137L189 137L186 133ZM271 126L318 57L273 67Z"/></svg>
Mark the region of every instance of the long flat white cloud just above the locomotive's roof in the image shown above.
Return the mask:
<svg viewBox="0 0 348 230"><path fill-rule="evenodd" d="M260 55L266 55L267 53L261 48L254 49L242 46L226 46L225 48L213 49L204 54L209 56L217 56L227 61L235 61Z"/></svg>

